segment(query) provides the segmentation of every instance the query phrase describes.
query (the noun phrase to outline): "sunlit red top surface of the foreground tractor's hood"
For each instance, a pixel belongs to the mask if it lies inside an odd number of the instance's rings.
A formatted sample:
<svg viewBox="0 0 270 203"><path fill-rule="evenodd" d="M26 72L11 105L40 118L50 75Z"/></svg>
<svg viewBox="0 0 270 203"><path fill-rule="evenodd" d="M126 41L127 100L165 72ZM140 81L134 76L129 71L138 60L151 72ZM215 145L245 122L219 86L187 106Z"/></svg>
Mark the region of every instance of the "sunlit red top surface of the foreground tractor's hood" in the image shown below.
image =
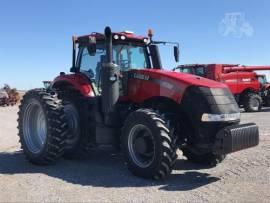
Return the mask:
<svg viewBox="0 0 270 203"><path fill-rule="evenodd" d="M136 71L137 72L137 71ZM179 73L174 71L160 70L160 69L144 69L139 70L138 73L150 78L160 79L174 85L185 85L185 86L201 86L209 88L227 88L223 83L209 80L200 76Z"/></svg>

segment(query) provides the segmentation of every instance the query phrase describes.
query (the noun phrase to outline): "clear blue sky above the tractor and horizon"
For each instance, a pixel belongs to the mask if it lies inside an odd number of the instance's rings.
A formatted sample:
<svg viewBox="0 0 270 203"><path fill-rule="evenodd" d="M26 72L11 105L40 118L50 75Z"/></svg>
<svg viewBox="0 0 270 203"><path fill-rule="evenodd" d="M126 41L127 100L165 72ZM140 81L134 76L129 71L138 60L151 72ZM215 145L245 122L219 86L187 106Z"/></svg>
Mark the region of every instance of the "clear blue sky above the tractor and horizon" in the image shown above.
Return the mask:
<svg viewBox="0 0 270 203"><path fill-rule="evenodd" d="M270 64L269 8L267 0L1 0L0 85L29 89L68 72L71 36L106 25L140 35L152 28L155 39L178 41L181 64ZM245 26L226 32L226 15ZM164 66L175 66L172 48L161 54Z"/></svg>

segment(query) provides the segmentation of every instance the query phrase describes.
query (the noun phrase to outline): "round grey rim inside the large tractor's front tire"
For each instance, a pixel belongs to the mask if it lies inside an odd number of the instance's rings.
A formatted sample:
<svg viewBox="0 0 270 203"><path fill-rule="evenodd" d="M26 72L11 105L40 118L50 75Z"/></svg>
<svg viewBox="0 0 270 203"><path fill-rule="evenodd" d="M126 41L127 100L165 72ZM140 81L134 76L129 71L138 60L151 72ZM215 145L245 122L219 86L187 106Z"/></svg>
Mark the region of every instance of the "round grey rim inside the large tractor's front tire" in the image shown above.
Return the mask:
<svg viewBox="0 0 270 203"><path fill-rule="evenodd" d="M150 166L155 158L154 136L145 125L135 125L128 136L128 150L133 162L141 168Z"/></svg>

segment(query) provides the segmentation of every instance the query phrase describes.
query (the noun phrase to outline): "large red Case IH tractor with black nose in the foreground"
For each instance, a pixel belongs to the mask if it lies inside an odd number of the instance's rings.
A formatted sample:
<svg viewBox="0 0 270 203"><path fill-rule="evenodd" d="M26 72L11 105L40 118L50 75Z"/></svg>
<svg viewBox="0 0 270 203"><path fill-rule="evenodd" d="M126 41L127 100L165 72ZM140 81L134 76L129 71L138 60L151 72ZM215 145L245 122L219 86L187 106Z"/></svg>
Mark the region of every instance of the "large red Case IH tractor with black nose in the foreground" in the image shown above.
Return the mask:
<svg viewBox="0 0 270 203"><path fill-rule="evenodd" d="M73 37L71 74L28 91L19 110L22 149L32 163L89 147L121 143L130 171L163 179L179 148L214 166L226 154L259 142L255 124L239 124L228 88L212 80L162 70L158 44L130 32ZM78 54L76 50L78 48ZM178 48L174 47L176 61Z"/></svg>

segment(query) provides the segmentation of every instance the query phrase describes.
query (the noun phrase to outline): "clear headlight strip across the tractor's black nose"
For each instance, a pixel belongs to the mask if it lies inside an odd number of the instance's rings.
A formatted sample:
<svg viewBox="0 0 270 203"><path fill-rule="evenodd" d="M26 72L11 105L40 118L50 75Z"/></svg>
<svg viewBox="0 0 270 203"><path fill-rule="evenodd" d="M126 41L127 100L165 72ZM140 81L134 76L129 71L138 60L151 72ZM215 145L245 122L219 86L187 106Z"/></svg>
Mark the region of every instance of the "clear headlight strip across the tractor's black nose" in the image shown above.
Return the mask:
<svg viewBox="0 0 270 203"><path fill-rule="evenodd" d="M236 121L240 119L240 113L231 114L208 114L202 115L201 121L203 122L222 122L222 121Z"/></svg>

